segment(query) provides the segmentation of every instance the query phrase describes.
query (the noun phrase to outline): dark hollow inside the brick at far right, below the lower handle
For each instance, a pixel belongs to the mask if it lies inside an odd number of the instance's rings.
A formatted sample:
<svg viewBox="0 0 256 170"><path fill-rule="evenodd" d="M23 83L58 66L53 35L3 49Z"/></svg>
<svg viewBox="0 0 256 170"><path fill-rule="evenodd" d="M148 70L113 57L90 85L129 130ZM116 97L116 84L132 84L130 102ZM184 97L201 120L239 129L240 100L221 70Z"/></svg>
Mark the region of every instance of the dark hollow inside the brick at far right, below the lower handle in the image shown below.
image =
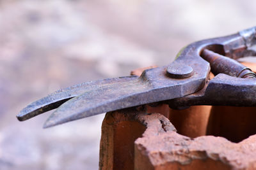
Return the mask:
<svg viewBox="0 0 256 170"><path fill-rule="evenodd" d="M207 135L239 142L256 134L255 107L212 106Z"/></svg>

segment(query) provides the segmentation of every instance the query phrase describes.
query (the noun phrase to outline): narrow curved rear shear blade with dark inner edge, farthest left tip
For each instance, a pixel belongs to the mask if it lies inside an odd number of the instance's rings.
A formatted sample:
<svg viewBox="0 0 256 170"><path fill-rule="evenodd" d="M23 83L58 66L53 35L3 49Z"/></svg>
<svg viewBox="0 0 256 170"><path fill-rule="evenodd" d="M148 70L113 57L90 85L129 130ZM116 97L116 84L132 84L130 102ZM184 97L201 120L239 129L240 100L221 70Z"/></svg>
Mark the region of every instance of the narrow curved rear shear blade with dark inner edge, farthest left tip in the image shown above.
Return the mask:
<svg viewBox="0 0 256 170"><path fill-rule="evenodd" d="M20 111L17 118L20 121L28 120L36 115L40 115L46 111L58 108L61 104L65 103L69 99L79 96L85 92L90 92L96 87L108 87L111 86L113 82L118 85L122 85L122 83L134 80L136 78L138 77L127 76L120 78L108 78L105 80L89 81L79 85L74 85L72 87L67 87L66 89L58 90L46 97L43 97L42 99L39 99L38 101L29 104L26 108Z"/></svg>

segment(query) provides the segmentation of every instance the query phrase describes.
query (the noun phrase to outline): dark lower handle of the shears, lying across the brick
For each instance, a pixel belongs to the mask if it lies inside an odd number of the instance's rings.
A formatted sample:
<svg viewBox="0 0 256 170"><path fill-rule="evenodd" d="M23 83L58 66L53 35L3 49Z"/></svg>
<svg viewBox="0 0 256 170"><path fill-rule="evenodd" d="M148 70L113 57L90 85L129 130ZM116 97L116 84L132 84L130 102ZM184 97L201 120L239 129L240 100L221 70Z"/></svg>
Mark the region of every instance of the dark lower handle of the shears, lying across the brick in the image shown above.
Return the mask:
<svg viewBox="0 0 256 170"><path fill-rule="evenodd" d="M256 106L255 79L218 74L205 88L186 97L166 101L172 108L195 105Z"/></svg>

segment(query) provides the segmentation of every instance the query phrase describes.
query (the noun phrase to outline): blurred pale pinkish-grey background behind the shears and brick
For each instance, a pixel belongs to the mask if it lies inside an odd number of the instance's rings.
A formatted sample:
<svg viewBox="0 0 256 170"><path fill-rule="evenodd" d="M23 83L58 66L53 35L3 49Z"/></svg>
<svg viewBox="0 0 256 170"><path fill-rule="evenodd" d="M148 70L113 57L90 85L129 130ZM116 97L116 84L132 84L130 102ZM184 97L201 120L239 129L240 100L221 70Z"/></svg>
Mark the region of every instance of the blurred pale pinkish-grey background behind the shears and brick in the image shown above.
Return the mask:
<svg viewBox="0 0 256 170"><path fill-rule="evenodd" d="M27 104L60 88L172 62L200 39L255 26L256 1L1 1L0 169L98 169L104 114L42 129Z"/></svg>

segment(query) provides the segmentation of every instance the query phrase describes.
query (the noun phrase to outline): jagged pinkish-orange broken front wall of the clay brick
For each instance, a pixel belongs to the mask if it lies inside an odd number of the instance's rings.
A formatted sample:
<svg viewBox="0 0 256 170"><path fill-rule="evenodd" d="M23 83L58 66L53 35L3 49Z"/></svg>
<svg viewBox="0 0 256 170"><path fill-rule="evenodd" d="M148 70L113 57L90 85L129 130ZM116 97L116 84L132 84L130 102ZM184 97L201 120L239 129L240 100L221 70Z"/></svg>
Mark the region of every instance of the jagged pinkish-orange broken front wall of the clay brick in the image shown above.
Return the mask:
<svg viewBox="0 0 256 170"><path fill-rule="evenodd" d="M214 136L188 138L159 128L147 125L143 137L135 141L136 169L256 169L256 135L232 143Z"/></svg>

